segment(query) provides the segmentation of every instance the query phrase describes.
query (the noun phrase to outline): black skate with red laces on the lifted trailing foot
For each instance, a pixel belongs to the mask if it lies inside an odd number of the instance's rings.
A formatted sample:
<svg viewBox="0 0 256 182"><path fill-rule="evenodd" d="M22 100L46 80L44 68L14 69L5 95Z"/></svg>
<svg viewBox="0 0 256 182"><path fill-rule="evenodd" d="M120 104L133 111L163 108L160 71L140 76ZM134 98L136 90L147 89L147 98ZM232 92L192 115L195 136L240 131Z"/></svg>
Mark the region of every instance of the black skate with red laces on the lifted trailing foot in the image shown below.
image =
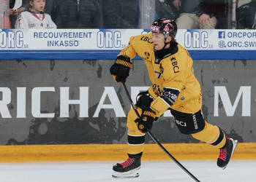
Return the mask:
<svg viewBox="0 0 256 182"><path fill-rule="evenodd" d="M217 165L222 167L223 170L227 167L227 164L236 149L237 143L238 141L234 141L233 138L227 138L225 146L220 149Z"/></svg>

